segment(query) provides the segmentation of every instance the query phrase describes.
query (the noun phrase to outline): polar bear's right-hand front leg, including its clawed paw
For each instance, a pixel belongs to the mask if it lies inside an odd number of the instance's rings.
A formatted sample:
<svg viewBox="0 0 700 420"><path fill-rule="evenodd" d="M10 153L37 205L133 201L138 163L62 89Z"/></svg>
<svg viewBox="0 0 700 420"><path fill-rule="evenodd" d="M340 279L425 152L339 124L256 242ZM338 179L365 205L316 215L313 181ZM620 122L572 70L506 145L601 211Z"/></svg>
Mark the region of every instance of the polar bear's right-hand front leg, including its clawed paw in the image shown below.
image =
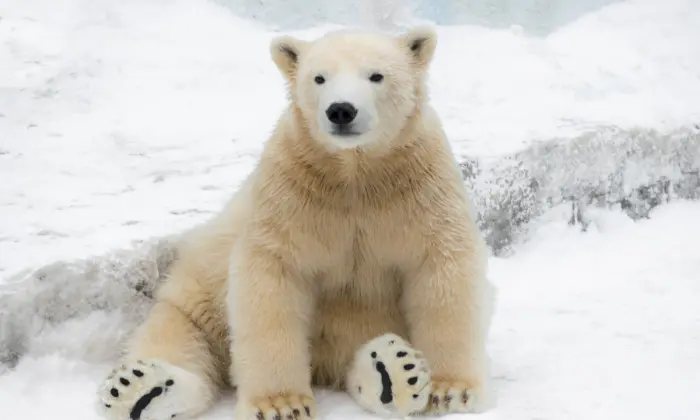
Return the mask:
<svg viewBox="0 0 700 420"><path fill-rule="evenodd" d="M404 283L401 303L409 337L432 370L431 414L485 408L490 305L480 258L469 247L434 249Z"/></svg>

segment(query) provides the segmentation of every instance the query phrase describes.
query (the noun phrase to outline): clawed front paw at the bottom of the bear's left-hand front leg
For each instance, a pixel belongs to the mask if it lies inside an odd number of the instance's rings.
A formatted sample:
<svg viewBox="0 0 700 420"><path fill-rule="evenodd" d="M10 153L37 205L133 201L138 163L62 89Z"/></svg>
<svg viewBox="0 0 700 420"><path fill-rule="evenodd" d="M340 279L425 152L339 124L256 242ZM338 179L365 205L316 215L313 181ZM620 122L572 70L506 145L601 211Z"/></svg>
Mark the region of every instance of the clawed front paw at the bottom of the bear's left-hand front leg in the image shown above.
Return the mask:
<svg viewBox="0 0 700 420"><path fill-rule="evenodd" d="M313 397L281 394L239 401L236 420L312 420L316 418Z"/></svg>

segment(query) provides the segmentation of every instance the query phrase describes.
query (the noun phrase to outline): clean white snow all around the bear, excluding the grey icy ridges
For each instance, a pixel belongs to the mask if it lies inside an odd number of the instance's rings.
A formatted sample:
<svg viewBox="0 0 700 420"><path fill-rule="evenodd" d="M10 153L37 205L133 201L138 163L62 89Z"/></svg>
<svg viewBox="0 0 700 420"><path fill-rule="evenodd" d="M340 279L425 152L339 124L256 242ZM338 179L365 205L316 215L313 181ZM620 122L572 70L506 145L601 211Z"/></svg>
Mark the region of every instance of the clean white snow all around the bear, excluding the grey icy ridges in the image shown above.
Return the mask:
<svg viewBox="0 0 700 420"><path fill-rule="evenodd" d="M433 103L459 154L502 156L600 126L700 123L695 0L628 0L546 37L438 32ZM217 211L284 103L272 36L207 0L0 0L0 293L19 270L177 233ZM514 256L494 258L499 402L482 417L696 418L699 215L688 202L636 224L594 212L581 233L555 209ZM79 348L115 319L47 342ZM0 376L0 418L95 418L107 365L59 350ZM344 396L322 395L328 418L360 417Z"/></svg>

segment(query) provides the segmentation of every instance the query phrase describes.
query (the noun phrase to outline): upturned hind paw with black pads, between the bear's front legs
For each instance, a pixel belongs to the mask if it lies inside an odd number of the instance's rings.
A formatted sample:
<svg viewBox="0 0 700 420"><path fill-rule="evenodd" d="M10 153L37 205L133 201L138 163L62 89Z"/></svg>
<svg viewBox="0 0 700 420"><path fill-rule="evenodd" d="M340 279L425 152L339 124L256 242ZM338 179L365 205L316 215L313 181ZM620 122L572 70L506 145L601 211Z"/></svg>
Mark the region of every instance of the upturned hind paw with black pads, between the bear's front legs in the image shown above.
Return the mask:
<svg viewBox="0 0 700 420"><path fill-rule="evenodd" d="M363 345L348 372L350 395L383 416L419 414L429 402L430 369L421 353L396 334Z"/></svg>

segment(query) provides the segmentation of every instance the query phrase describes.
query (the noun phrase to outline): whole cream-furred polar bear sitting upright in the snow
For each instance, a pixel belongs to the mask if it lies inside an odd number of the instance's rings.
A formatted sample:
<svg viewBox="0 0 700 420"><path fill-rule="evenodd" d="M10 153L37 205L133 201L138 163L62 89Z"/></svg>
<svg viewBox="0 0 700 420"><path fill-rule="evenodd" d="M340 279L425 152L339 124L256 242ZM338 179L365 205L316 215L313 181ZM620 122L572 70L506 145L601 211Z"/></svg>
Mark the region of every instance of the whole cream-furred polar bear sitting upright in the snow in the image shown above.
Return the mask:
<svg viewBox="0 0 700 420"><path fill-rule="evenodd" d="M99 391L113 420L317 418L313 386L383 415L478 411L487 252L428 103L436 33L281 36L289 103L223 211L187 232Z"/></svg>

